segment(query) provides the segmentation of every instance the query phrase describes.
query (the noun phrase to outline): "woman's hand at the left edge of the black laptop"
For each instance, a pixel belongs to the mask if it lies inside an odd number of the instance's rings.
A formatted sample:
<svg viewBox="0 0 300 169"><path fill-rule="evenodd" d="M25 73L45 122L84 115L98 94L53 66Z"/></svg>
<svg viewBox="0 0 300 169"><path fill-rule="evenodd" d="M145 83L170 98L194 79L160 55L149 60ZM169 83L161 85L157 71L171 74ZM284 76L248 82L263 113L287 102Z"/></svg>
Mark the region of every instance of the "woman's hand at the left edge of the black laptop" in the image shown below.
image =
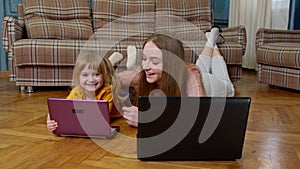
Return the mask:
<svg viewBox="0 0 300 169"><path fill-rule="evenodd" d="M131 107L122 107L123 110L123 117L126 119L126 122L132 126L138 126L138 107L131 106Z"/></svg>

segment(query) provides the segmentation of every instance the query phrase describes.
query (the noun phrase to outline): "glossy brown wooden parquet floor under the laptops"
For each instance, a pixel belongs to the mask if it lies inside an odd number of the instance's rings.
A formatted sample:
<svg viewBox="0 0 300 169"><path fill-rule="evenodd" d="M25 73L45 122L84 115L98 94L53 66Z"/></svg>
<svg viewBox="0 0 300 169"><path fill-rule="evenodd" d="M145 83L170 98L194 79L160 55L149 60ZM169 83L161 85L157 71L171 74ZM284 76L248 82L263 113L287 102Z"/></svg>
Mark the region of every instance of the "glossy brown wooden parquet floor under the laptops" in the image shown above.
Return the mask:
<svg viewBox="0 0 300 169"><path fill-rule="evenodd" d="M242 159L237 161L142 162L135 157L136 129L123 120L115 141L56 137L46 129L48 97L66 97L67 88L20 92L0 73L0 168L300 168L300 92L270 88L244 70L234 82L236 96L252 103Z"/></svg>

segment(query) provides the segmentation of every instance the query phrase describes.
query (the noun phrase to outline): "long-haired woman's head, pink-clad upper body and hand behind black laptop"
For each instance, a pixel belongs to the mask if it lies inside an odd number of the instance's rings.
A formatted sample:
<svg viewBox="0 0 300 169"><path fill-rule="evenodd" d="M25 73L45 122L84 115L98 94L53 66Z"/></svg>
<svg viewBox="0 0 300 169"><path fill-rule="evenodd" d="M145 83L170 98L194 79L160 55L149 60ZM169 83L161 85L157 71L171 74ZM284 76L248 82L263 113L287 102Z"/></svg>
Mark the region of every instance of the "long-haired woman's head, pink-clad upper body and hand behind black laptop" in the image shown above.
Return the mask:
<svg viewBox="0 0 300 169"><path fill-rule="evenodd" d="M122 85L136 89L133 106L123 107L123 117L137 127L138 96L204 96L199 69L184 62L183 44L170 36L155 34L143 45L141 68L117 74Z"/></svg>

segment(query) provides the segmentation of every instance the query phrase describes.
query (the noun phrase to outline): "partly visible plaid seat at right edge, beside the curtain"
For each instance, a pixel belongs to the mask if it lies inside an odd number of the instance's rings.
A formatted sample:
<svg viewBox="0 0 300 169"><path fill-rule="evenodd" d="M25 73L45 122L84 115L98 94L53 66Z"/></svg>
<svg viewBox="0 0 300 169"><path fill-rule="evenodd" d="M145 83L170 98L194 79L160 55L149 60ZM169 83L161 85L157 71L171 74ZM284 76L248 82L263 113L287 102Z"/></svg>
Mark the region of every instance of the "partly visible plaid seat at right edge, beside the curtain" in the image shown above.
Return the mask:
<svg viewBox="0 0 300 169"><path fill-rule="evenodd" d="M259 29L256 59L259 82L300 90L300 30Z"/></svg>

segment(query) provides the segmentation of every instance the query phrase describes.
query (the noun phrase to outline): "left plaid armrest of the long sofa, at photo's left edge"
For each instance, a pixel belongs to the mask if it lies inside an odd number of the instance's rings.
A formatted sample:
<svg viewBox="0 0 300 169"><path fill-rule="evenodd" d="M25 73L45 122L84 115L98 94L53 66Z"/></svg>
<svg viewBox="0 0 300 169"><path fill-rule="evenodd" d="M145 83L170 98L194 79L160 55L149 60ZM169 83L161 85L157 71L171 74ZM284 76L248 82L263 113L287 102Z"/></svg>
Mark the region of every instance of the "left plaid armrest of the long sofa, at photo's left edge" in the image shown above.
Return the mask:
<svg viewBox="0 0 300 169"><path fill-rule="evenodd" d="M13 16L5 16L2 22L2 46L6 52L12 52L15 41L25 37L24 23Z"/></svg>

